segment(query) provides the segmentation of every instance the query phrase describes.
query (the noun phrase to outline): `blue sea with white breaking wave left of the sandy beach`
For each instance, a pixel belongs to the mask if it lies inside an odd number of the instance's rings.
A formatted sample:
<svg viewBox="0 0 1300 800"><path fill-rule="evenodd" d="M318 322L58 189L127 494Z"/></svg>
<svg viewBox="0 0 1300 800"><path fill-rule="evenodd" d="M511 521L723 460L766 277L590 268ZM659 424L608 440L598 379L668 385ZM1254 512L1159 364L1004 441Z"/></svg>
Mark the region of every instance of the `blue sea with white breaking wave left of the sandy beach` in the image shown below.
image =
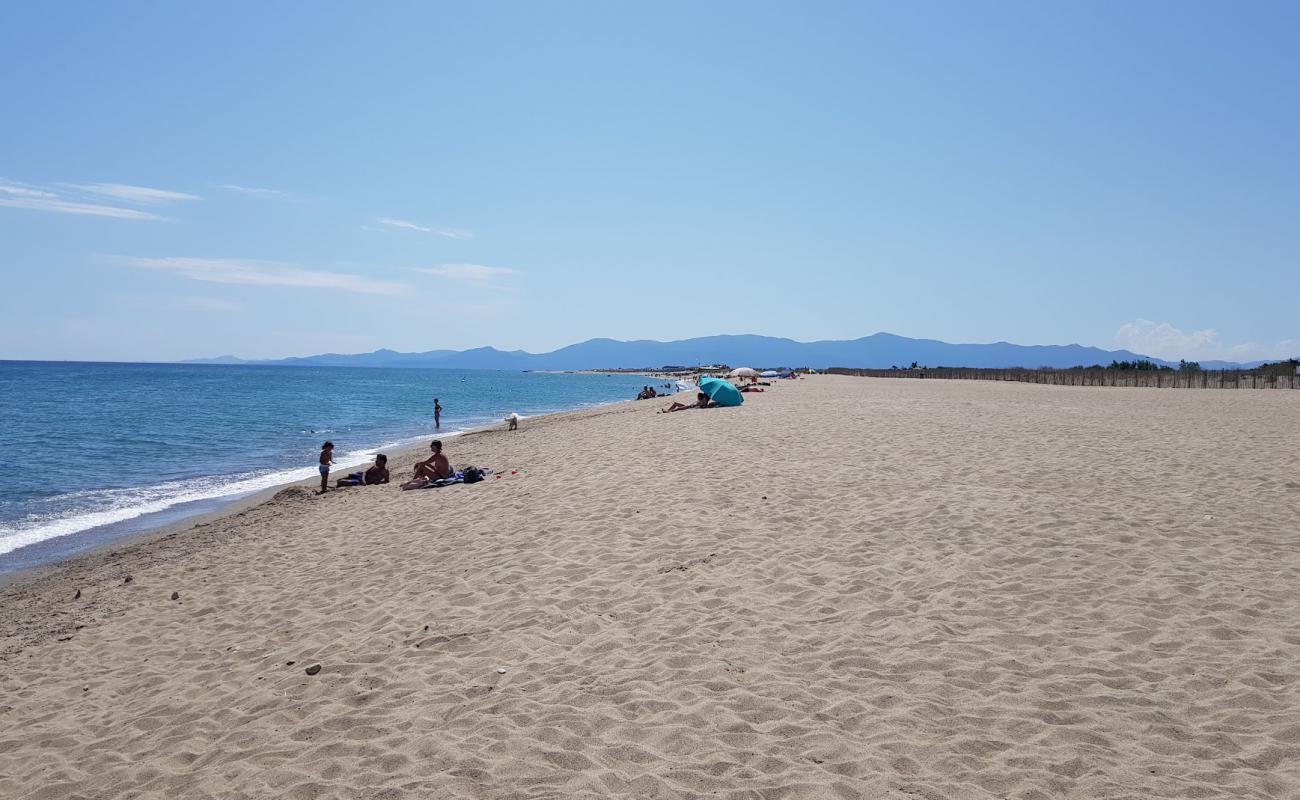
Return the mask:
<svg viewBox="0 0 1300 800"><path fill-rule="evenodd" d="M459 433L511 412L630 401L651 382L491 369L0 362L8 464L0 575L313 477L326 440L335 445L334 477L434 437L448 440L456 463Z"/></svg>

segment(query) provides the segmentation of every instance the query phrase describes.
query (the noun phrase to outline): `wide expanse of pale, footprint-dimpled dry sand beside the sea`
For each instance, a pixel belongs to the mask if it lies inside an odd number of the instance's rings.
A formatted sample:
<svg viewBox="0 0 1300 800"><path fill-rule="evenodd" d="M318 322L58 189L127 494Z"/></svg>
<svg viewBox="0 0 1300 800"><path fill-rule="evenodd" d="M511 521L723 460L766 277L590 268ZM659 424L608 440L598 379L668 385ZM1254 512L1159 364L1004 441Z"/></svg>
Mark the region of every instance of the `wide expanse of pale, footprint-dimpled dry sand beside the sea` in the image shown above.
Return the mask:
<svg viewBox="0 0 1300 800"><path fill-rule="evenodd" d="M0 797L1300 796L1295 393L664 405L0 588Z"/></svg>

